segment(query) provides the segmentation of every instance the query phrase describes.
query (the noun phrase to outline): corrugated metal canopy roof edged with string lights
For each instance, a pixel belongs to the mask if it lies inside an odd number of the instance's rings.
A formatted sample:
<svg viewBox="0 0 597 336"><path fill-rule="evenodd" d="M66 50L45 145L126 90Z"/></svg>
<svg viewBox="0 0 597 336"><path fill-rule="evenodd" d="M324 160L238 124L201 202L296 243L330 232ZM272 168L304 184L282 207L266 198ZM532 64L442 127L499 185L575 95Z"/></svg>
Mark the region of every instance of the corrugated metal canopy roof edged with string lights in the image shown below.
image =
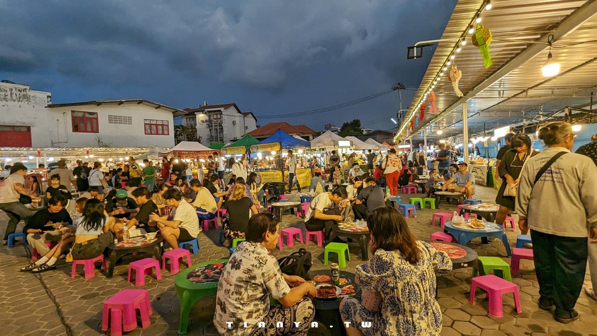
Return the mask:
<svg viewBox="0 0 597 336"><path fill-rule="evenodd" d="M445 66L454 45L464 36L482 5L483 0L458 1L441 36L447 42L439 42L408 116ZM430 115L427 109L426 118L413 131L406 118L402 127L407 129L407 137L414 137L424 128L428 139L460 135L464 102L467 102L469 136L531 120L537 114L560 111L565 106L582 108L591 103L592 92L597 93L597 76L594 75L597 73L597 44L570 44L594 39L596 0L494 0L492 5L481 17L494 37L490 44L493 65L485 69L478 48L470 42L470 35L466 36L467 45L454 59L462 71L459 87L464 96L457 97L447 76L442 77L434 89L440 113ZM556 47L552 48L552 54L560 63L561 72L547 78L543 77L541 67L547 60L548 45L528 41L547 42L549 35L554 36ZM437 135L440 129L444 132Z"/></svg>

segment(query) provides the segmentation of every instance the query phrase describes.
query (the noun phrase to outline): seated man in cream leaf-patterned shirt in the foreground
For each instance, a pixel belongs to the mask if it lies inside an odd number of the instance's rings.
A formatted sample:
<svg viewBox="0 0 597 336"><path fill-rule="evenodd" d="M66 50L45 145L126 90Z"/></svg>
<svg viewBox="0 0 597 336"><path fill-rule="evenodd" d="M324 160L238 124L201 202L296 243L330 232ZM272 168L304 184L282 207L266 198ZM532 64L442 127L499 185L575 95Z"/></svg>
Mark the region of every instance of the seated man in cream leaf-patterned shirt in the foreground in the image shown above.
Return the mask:
<svg viewBox="0 0 597 336"><path fill-rule="evenodd" d="M278 243L275 216L259 213L250 219L249 227L247 241L232 253L220 277L216 329L232 336L306 335L315 307L304 296L315 297L315 286L299 276L283 274L276 258L267 253ZM270 295L281 304L270 307ZM278 322L284 327L276 328Z"/></svg>

